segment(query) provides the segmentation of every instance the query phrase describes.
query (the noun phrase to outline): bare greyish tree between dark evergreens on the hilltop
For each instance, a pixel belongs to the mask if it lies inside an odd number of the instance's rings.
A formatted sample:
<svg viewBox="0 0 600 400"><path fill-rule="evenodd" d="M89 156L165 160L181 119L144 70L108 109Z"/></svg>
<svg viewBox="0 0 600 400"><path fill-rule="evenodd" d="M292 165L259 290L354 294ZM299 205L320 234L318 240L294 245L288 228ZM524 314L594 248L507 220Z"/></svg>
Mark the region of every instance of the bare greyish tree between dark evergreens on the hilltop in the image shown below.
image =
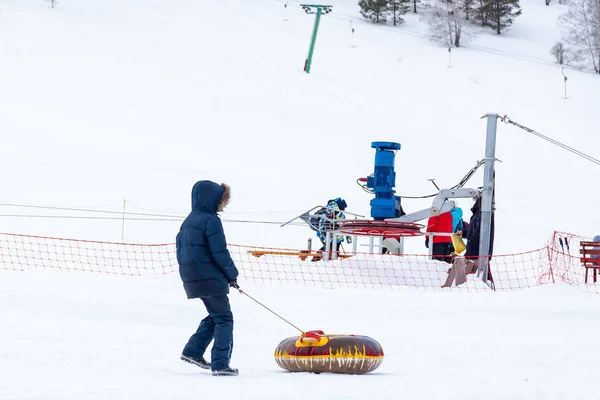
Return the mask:
<svg viewBox="0 0 600 400"><path fill-rule="evenodd" d="M432 37L450 48L460 47L461 38L468 29L466 20L464 3L460 0L436 0L427 22Z"/></svg>

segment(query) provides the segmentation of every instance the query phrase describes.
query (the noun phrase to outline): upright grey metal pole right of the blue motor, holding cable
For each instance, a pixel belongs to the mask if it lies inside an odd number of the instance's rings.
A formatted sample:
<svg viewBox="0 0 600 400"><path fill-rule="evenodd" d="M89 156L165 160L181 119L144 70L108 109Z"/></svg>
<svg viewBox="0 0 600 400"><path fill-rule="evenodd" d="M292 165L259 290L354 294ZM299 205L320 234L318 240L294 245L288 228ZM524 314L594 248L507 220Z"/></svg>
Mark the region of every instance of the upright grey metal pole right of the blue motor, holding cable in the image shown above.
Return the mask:
<svg viewBox="0 0 600 400"><path fill-rule="evenodd" d="M488 280L490 238L492 232L492 211L494 200L494 161L496 160L496 130L498 118L494 113L488 113L487 133L485 138L485 166L483 170L483 191L481 197L481 231L479 234L479 270L481 279Z"/></svg>

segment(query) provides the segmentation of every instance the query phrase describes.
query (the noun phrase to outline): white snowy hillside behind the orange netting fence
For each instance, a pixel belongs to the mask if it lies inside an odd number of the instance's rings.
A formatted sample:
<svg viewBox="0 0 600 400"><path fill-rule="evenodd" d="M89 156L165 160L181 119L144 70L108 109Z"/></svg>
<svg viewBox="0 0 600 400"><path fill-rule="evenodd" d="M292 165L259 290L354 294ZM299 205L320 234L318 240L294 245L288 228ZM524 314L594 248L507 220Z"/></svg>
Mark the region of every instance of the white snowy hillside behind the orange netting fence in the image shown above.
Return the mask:
<svg viewBox="0 0 600 400"><path fill-rule="evenodd" d="M524 15L539 14L546 31L562 7L523 3ZM465 48L453 52L448 68L446 49L400 33L403 27L356 24L352 48L346 15L358 18L356 7L333 5L341 15L323 18L307 75L301 70L313 17L296 4L284 21L283 3L272 0L210 7L63 0L54 10L37 0L5 2L2 203L118 212L126 199L130 212L183 216L191 185L208 178L233 187L225 219L283 222L332 196L368 216L370 196L355 180L372 172L375 140L402 144L397 190L417 196L432 192L428 178L451 186L483 157L479 118L486 112L508 114L576 148L597 148L596 76L569 72L564 100L556 67ZM424 32L418 17L409 17L406 29ZM542 57L555 37L539 44L545 31L528 27L527 18L506 37L486 33L473 45L529 53L532 39L543 50L532 54ZM499 252L537 248L554 229L597 233L598 216L586 207L597 190L582 176L593 174L593 165L505 125L497 157ZM470 203L460 204L468 217ZM407 211L427 206L404 202ZM118 240L121 221L114 218L7 217L3 230ZM130 221L124 238L169 242L178 226ZM242 244L300 247L311 236L303 226L276 224L231 223L227 230L230 242ZM407 247L425 251L421 239Z"/></svg>

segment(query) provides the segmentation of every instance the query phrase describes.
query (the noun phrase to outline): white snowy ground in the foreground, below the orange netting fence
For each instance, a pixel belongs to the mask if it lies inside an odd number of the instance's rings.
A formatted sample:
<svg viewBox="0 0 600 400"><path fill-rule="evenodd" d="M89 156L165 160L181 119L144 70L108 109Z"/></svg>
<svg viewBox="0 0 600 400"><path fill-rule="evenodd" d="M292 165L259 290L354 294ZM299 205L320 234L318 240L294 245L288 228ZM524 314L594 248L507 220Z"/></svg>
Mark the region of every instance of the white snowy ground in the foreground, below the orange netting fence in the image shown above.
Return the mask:
<svg viewBox="0 0 600 400"><path fill-rule="evenodd" d="M231 293L235 378L179 360L205 311L176 274L3 272L3 399L590 399L597 396L595 296L562 285L513 293L431 293L245 284L303 330L377 340L367 375L290 374L277 344L297 331ZM26 294L26 295L24 295ZM10 304L9 307L6 305ZM226 379L227 382L223 382Z"/></svg>

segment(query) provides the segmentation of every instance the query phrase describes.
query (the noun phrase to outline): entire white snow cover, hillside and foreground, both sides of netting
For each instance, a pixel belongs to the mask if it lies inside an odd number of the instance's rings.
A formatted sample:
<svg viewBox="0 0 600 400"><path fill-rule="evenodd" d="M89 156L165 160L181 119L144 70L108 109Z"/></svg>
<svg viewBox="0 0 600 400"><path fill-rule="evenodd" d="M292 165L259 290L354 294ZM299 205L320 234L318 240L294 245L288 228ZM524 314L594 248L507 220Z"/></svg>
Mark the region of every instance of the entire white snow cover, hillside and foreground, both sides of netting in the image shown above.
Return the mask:
<svg viewBox="0 0 600 400"><path fill-rule="evenodd" d="M193 183L211 179L232 187L223 214L230 243L300 248L312 232L280 223L329 198L342 196L349 211L369 216L371 197L356 179L372 172L371 142L401 143L398 194L431 194L427 179L452 186L483 158L480 117L488 112L597 156L600 81L567 69L564 99L549 54L565 6L522 0L523 15L505 34L478 30L452 51L449 67L421 15L408 15L405 26L374 26L354 3L331 2L305 74L314 17L298 2L284 21L283 2L274 0L61 0L56 9L4 0L2 231L172 243ZM598 233L596 166L502 123L496 153L497 254L540 248L554 230ZM481 186L482 175L469 185ZM127 212L177 218L123 226L124 200ZM470 202L458 203L468 218ZM430 205L403 200L407 212ZM90 215L101 218L73 218ZM407 239L406 251L425 253L423 239ZM560 284L474 295L241 282L303 329L372 336L386 358L367 376L287 374L272 352L296 332L232 293L241 375L223 384L178 359L204 309L184 298L177 274L0 276L3 398L598 394L600 328L590 321L599 306Z"/></svg>

